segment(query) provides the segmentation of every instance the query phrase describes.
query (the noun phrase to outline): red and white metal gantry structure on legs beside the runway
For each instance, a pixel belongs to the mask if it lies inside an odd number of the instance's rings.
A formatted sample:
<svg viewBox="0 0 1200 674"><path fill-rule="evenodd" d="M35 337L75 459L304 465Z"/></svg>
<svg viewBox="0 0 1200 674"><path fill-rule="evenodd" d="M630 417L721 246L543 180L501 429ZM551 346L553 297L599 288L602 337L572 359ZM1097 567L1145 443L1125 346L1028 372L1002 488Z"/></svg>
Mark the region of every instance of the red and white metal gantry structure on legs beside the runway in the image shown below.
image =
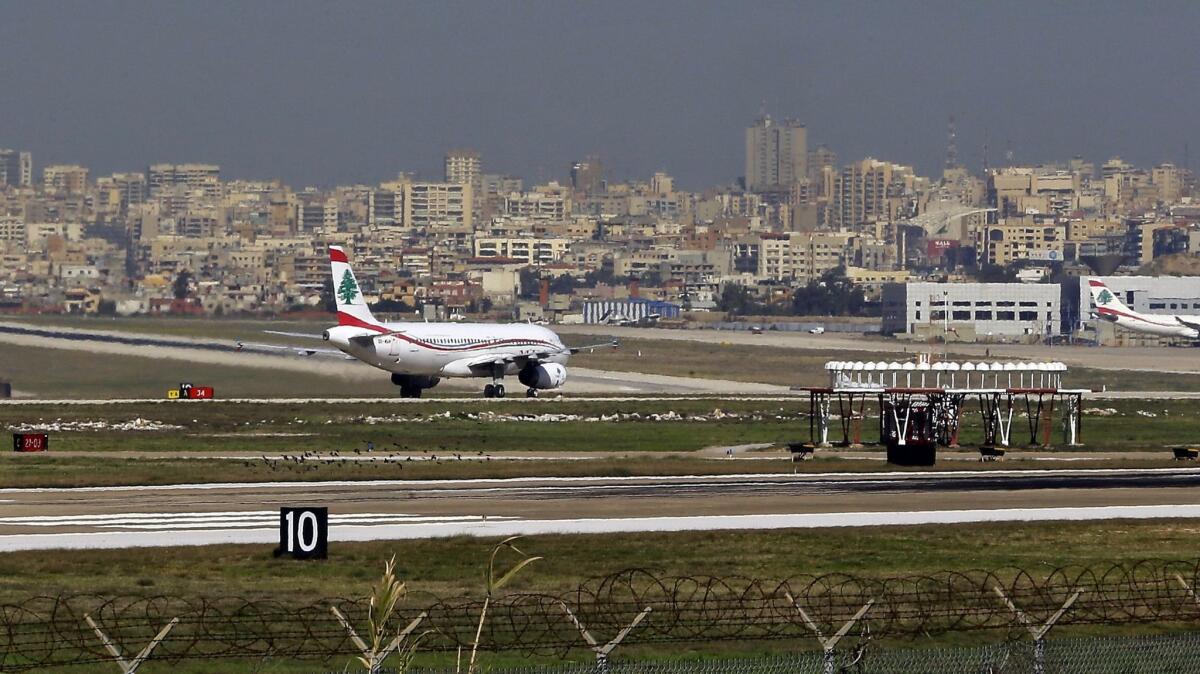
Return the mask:
<svg viewBox="0 0 1200 674"><path fill-rule="evenodd" d="M828 386L803 389L809 393L812 446L832 444L835 415L838 443L863 444L864 421L874 413L889 462L932 464L938 446L959 446L964 415L976 407L983 451L1010 446L1018 417L1027 423L1028 445L1049 446L1056 409L1063 443L1081 440L1084 396L1090 391L1063 387L1067 366L1061 362L950 362L920 355L906 362L829 361L824 368ZM868 404L872 399L874 410Z"/></svg>

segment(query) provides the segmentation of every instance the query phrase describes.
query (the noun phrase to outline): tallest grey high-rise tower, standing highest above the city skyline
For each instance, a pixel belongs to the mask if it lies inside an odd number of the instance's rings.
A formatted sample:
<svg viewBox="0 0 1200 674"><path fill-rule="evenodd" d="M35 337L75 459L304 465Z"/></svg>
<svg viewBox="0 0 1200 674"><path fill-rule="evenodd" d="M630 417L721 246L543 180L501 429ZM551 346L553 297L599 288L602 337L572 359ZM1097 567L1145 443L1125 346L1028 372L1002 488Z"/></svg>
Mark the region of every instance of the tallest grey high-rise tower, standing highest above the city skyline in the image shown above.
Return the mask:
<svg viewBox="0 0 1200 674"><path fill-rule="evenodd" d="M809 174L808 130L763 115L746 127L745 185L750 192L787 188Z"/></svg>

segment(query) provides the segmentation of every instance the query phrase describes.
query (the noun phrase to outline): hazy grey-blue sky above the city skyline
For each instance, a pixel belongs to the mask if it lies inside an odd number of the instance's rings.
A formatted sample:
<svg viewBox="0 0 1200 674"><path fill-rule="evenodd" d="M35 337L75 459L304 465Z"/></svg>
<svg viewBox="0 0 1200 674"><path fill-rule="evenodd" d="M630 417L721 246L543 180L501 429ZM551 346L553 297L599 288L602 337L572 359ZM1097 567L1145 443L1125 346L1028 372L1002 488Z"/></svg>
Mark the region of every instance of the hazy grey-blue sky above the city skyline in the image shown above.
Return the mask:
<svg viewBox="0 0 1200 674"><path fill-rule="evenodd" d="M97 173L218 163L295 186L487 173L734 180L766 101L840 161L936 174L1200 163L1200 2L0 0L0 148Z"/></svg>

